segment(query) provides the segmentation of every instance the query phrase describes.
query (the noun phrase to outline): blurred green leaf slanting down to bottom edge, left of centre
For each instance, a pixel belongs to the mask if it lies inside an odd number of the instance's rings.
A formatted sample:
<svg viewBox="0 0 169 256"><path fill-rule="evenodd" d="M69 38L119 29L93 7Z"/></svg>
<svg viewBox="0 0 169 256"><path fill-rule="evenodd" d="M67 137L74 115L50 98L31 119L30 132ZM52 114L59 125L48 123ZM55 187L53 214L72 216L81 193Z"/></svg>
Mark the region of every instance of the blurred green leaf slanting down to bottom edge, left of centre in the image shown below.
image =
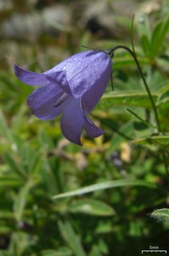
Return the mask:
<svg viewBox="0 0 169 256"><path fill-rule="evenodd" d="M61 222L59 221L59 230L67 245L73 251L73 255L75 256L86 256L82 248L82 243L80 241L79 236L76 235L75 231L73 230L72 226L69 222Z"/></svg>

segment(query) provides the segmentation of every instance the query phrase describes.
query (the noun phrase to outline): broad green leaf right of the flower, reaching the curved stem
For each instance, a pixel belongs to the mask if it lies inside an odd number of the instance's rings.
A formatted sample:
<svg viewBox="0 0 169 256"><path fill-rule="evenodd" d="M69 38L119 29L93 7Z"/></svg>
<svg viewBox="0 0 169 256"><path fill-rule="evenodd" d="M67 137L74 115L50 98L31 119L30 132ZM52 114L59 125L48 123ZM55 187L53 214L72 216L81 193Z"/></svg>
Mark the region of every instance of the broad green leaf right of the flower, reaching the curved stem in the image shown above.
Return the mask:
<svg viewBox="0 0 169 256"><path fill-rule="evenodd" d="M158 94L152 93L152 97L156 102ZM98 108L108 109L113 106L127 106L139 108L152 108L149 102L149 96L144 91L126 91L111 92L104 94L102 100L98 104Z"/></svg>

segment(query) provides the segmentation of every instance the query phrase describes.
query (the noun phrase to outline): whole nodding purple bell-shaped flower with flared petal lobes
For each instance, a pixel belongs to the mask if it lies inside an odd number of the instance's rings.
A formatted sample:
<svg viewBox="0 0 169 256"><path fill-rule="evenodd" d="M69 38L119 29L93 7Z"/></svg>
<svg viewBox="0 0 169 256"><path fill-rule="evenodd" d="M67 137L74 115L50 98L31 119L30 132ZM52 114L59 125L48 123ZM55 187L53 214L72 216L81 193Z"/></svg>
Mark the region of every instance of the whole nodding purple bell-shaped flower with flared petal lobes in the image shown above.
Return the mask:
<svg viewBox="0 0 169 256"><path fill-rule="evenodd" d="M87 50L72 55L44 73L27 71L14 64L14 73L25 84L38 85L27 99L38 119L54 119L62 114L61 131L70 142L82 145L82 129L89 137L104 133L88 114L110 80L109 51Z"/></svg>

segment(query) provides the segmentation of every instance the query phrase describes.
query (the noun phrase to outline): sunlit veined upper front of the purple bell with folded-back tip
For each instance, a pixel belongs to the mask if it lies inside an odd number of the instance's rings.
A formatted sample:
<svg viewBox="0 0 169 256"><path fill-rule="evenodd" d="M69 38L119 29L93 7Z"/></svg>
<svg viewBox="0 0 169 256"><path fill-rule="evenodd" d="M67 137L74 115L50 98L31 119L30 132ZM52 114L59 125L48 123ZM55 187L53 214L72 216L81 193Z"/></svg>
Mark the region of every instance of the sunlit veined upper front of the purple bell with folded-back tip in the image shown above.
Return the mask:
<svg viewBox="0 0 169 256"><path fill-rule="evenodd" d="M65 71L65 73L58 73ZM58 83L66 93L80 98L87 90L99 83L102 76L110 79L110 57L103 51L89 50L76 54L60 62L45 74L48 79ZM50 80L51 81L51 80Z"/></svg>

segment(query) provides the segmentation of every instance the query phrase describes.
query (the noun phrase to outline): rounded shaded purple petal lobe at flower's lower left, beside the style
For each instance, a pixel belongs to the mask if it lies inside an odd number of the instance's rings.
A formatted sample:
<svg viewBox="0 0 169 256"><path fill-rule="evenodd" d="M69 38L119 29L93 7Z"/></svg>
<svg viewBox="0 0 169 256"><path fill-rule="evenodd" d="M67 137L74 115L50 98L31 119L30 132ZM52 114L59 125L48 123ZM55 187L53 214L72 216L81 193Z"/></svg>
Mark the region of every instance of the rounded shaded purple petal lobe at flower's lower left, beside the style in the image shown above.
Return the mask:
<svg viewBox="0 0 169 256"><path fill-rule="evenodd" d="M28 96L27 103L33 114L39 119L54 119L67 104L65 92L56 84L48 84L34 90Z"/></svg>

